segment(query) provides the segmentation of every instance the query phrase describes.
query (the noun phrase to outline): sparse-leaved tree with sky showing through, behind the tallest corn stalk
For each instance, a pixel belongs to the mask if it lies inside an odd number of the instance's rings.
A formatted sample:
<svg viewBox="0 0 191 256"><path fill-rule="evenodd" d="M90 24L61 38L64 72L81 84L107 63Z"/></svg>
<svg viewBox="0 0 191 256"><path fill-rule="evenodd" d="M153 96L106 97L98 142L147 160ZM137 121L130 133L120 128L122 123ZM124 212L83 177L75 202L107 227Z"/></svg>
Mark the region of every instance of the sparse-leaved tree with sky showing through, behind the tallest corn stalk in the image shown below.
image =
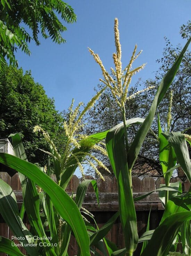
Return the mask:
<svg viewBox="0 0 191 256"><path fill-rule="evenodd" d="M186 25L181 26L181 36L183 38L188 38L189 32L191 32L190 21ZM145 82L139 79L135 87L130 88L128 95L134 94L142 84L144 84L144 88L147 88L148 86L155 86L155 88L149 91L144 91L142 94L138 94L136 97L126 102L125 108L127 119L147 116L161 78L171 67L172 63L181 51L180 45L173 47L167 38L165 38L165 42L166 47L163 51L163 57L157 60L157 62L161 63L161 66L156 72L155 79L148 79ZM173 90L173 103L171 108L172 121L170 131L184 131L184 133L188 134L191 133L190 56L190 51L186 51L177 75L170 88L170 90ZM98 87L102 87L102 85L98 85ZM157 111L164 131L167 129L166 124L170 101L170 90L166 93L166 96L160 103ZM89 111L87 116L88 122L85 126L84 132L91 134L114 127L116 124L122 122L122 116L119 115L119 113L120 112L114 98L110 95L109 90L106 89L97 104L94 106L94 109ZM146 140L142 145L138 160L136 161L133 169L134 174L141 175L151 170L157 170L158 173L161 174L158 160L158 142L155 137L155 134L158 132L157 114L153 120L150 133L147 135ZM133 140L134 134L138 128L138 125L128 128L128 138L130 142ZM97 152L95 152L95 154L97 154ZM100 154L99 157L105 165L109 165L109 161L106 157Z"/></svg>

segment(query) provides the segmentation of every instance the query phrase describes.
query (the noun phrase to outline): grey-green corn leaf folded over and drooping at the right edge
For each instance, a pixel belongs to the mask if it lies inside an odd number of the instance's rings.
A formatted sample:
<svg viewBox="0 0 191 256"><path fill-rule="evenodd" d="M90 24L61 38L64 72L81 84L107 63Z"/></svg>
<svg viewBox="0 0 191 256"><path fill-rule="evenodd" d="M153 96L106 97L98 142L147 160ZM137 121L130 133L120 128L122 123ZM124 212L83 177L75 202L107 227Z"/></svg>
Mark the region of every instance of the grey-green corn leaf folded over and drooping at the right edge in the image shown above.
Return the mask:
<svg viewBox="0 0 191 256"><path fill-rule="evenodd" d="M162 135L174 148L177 160L191 183L191 162L184 135L179 132L162 133Z"/></svg>

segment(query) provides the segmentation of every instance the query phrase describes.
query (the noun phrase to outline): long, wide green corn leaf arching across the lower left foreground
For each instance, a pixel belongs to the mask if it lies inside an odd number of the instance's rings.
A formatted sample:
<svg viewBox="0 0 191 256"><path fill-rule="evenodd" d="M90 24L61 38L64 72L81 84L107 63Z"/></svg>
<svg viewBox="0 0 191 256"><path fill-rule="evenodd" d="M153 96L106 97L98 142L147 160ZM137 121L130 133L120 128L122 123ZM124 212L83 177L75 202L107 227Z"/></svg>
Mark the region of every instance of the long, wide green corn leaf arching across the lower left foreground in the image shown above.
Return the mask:
<svg viewBox="0 0 191 256"><path fill-rule="evenodd" d="M89 256L89 236L84 221L77 205L68 194L34 164L6 153L0 153L0 163L23 173L50 196L59 215L72 228L81 251L81 256Z"/></svg>

